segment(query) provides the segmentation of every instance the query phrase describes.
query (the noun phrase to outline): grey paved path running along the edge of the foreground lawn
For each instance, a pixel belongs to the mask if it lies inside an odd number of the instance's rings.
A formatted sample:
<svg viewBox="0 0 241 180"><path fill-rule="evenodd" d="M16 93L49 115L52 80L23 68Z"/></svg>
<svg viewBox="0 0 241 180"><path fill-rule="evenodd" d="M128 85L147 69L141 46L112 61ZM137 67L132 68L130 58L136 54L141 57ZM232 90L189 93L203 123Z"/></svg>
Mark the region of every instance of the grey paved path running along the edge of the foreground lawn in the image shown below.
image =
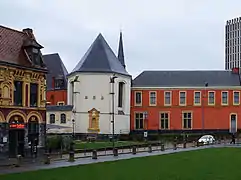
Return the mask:
<svg viewBox="0 0 241 180"><path fill-rule="evenodd" d="M92 163L99 163L99 162L106 162L106 161L117 161L123 159L131 159L137 157L146 157L146 156L155 156L155 155L162 155L162 154L172 154L184 151L193 151L193 150L200 150L200 149L207 149L207 148L216 148L216 147L240 147L239 145L228 145L228 144L221 144L221 145L210 145L210 146L203 146L203 147L189 147L185 149L168 149L165 151L154 151L152 153L148 152L141 152L137 153L136 155L133 154L121 154L118 157L114 156L100 156L98 159L93 160L92 158L81 158L77 159L74 162L68 162L66 160L62 161L54 161L51 162L49 165L39 164L39 165L32 165L32 166L25 166L25 167L18 167L18 168L3 168L0 169L0 174L9 174L9 173L19 173L19 172L27 172L27 171L34 171L34 170L41 170L41 169L53 169L59 167L70 167L76 165L84 165L84 164L92 164Z"/></svg>

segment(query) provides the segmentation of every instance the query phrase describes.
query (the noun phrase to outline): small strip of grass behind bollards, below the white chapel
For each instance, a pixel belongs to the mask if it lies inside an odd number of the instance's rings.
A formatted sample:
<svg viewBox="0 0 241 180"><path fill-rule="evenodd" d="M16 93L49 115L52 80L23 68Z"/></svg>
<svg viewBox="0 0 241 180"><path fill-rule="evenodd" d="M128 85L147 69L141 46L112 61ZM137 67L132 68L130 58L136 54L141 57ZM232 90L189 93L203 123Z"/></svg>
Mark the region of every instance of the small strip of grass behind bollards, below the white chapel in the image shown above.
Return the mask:
<svg viewBox="0 0 241 180"><path fill-rule="evenodd" d="M105 141L105 142L75 142L76 149L98 149L98 148L105 148L105 147L112 147L112 142ZM117 141L115 142L115 147L120 146L128 146L138 144L138 142L131 142L131 141Z"/></svg>

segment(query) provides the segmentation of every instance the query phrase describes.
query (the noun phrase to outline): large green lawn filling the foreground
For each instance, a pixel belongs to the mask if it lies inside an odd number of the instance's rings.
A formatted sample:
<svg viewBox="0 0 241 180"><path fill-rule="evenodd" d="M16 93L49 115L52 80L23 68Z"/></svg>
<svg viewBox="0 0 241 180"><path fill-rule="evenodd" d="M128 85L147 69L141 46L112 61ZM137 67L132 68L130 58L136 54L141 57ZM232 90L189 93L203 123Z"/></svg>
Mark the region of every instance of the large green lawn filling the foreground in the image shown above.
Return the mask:
<svg viewBox="0 0 241 180"><path fill-rule="evenodd" d="M206 149L0 176L1 180L240 180L241 148Z"/></svg>

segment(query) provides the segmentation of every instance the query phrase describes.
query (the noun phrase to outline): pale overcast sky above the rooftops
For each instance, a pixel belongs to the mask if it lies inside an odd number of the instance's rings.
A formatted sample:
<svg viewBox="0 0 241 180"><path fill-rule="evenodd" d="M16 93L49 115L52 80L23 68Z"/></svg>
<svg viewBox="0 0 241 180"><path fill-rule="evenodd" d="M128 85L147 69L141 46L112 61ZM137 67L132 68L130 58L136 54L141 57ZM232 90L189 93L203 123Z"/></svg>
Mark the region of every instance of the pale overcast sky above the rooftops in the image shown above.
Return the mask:
<svg viewBox="0 0 241 180"><path fill-rule="evenodd" d="M99 32L114 52L123 31L127 70L223 69L224 25L240 0L0 0L0 23L30 27L69 72Z"/></svg>

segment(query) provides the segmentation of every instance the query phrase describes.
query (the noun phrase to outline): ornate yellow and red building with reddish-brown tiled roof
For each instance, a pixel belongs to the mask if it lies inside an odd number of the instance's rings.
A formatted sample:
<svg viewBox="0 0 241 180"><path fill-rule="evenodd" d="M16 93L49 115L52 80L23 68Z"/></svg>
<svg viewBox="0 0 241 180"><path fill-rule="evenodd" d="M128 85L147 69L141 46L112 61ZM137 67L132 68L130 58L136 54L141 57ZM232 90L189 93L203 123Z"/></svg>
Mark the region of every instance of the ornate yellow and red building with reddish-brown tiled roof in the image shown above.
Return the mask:
<svg viewBox="0 0 241 180"><path fill-rule="evenodd" d="M32 29L0 26L0 145L10 157L43 145L46 73Z"/></svg>

